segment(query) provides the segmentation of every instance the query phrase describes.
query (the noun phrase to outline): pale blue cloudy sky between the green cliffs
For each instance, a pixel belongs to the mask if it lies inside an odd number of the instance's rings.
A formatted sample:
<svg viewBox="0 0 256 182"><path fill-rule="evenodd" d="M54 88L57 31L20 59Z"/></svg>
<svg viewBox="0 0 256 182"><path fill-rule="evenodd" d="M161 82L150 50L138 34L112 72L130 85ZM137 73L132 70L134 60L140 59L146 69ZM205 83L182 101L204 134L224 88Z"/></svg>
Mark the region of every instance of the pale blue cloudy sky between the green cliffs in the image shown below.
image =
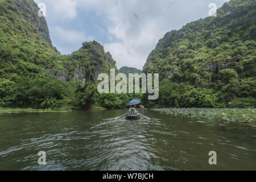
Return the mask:
<svg viewBox="0 0 256 182"><path fill-rule="evenodd" d="M159 39L228 0L34 0L44 3L52 44L71 54L96 40L123 66L142 69Z"/></svg>

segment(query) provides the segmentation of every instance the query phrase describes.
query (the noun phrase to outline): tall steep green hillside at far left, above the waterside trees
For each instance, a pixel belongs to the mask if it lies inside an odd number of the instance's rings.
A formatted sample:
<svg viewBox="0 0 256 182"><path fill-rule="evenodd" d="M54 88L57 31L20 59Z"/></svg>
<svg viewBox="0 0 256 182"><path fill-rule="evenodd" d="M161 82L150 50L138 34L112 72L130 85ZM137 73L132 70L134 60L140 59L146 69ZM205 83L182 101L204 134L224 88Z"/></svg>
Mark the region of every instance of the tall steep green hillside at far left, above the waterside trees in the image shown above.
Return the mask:
<svg viewBox="0 0 256 182"><path fill-rule="evenodd" d="M0 77L16 81L44 72L59 59L51 42L44 39L48 28L36 14L38 7L31 1L3 1L0 3ZM45 28L45 30L39 30Z"/></svg>

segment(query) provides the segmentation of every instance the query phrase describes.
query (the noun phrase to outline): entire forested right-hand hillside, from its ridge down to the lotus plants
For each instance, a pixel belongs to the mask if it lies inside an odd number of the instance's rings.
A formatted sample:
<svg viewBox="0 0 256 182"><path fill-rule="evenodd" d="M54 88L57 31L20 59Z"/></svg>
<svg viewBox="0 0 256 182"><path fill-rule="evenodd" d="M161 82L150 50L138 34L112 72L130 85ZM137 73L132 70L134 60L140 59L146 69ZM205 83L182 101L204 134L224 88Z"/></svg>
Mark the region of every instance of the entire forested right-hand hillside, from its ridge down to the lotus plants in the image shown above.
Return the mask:
<svg viewBox="0 0 256 182"><path fill-rule="evenodd" d="M188 23L159 40L143 72L159 73L148 106L255 107L256 1L231 0L217 16Z"/></svg>

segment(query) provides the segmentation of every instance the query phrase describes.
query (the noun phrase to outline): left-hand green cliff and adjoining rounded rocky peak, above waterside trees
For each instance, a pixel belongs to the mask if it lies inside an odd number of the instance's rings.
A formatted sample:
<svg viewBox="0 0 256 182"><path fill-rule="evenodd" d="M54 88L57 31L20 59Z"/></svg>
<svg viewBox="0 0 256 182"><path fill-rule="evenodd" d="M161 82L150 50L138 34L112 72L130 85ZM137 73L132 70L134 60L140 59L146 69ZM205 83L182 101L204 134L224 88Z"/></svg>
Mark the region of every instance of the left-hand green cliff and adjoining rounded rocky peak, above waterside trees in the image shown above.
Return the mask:
<svg viewBox="0 0 256 182"><path fill-rule="evenodd" d="M83 43L71 55L52 46L46 19L32 0L0 0L0 78L47 74L61 81L97 81L115 68L110 53L97 42ZM11 68L11 69L10 69Z"/></svg>

